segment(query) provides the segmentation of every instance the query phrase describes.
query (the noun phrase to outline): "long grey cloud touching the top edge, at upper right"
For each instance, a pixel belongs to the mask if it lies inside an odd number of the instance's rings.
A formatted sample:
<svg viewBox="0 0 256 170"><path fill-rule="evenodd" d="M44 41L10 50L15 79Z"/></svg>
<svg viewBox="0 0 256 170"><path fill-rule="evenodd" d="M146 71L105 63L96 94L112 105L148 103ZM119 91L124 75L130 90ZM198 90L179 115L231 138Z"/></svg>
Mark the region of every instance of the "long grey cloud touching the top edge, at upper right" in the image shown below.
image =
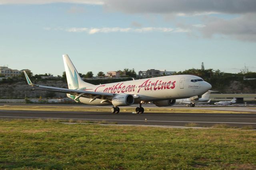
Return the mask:
<svg viewBox="0 0 256 170"><path fill-rule="evenodd" d="M256 12L256 0L105 0L104 6L126 13L173 13L181 16Z"/></svg>

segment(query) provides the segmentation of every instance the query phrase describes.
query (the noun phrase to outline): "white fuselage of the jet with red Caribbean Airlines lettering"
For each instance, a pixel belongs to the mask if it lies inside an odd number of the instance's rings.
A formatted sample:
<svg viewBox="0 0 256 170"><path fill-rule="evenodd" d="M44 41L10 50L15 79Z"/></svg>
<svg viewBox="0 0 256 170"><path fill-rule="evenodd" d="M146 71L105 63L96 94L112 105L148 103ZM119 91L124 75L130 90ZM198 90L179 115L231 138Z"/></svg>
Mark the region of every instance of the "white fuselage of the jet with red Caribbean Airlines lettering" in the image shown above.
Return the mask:
<svg viewBox="0 0 256 170"><path fill-rule="evenodd" d="M201 80L192 82L191 80ZM130 80L126 82L116 82L110 84L100 84L80 88L92 92L106 92L114 94L132 94L134 104L143 102L152 102L157 100L171 100L189 98L191 96L202 95L211 89L211 85L198 76L192 75L174 75L162 76L156 78L146 78L140 80ZM74 96L67 94L69 98ZM103 102L102 99L96 99L90 102L90 98L80 97L79 101L91 105L112 105Z"/></svg>

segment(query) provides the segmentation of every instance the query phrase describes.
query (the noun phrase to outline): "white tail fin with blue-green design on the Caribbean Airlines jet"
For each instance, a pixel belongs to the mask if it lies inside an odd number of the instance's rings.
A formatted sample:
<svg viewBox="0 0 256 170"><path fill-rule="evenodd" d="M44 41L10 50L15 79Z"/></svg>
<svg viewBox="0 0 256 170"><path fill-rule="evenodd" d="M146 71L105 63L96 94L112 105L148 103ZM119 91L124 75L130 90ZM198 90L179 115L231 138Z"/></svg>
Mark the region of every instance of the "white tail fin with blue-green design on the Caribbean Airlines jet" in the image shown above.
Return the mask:
<svg viewBox="0 0 256 170"><path fill-rule="evenodd" d="M69 89L80 89L93 84L84 82L67 54L62 55Z"/></svg>

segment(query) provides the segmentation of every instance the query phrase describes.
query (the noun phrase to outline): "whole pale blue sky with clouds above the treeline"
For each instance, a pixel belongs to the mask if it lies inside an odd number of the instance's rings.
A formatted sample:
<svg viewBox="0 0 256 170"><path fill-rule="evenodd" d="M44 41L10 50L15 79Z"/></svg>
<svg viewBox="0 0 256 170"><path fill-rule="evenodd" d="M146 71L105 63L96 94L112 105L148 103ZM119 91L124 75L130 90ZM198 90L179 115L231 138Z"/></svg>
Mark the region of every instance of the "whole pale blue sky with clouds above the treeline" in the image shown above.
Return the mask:
<svg viewBox="0 0 256 170"><path fill-rule="evenodd" d="M0 0L0 66L256 72L256 0Z"/></svg>

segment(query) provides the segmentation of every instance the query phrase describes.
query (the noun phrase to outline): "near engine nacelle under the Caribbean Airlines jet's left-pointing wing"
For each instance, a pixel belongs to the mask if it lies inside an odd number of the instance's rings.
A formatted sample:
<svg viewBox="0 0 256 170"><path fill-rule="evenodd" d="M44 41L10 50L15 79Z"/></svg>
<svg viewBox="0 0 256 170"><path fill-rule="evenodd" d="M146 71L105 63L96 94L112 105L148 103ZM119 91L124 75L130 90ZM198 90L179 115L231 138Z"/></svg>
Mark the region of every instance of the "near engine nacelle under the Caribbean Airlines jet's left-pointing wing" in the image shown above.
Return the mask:
<svg viewBox="0 0 256 170"><path fill-rule="evenodd" d="M114 106L129 106L134 103L134 97L130 94L116 94L112 98Z"/></svg>

